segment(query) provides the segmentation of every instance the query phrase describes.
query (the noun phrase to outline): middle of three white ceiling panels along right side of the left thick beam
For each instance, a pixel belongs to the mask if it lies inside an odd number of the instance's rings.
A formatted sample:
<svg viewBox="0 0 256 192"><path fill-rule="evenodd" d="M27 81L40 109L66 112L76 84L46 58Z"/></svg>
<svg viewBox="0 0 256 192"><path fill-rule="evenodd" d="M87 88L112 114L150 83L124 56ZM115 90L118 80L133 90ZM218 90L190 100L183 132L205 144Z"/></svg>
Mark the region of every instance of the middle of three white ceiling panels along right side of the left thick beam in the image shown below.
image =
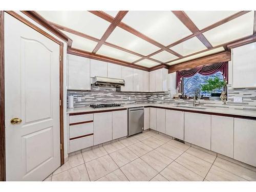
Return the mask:
<svg viewBox="0 0 256 192"><path fill-rule="evenodd" d="M106 41L142 55L148 55L160 49L119 27L111 33Z"/></svg>

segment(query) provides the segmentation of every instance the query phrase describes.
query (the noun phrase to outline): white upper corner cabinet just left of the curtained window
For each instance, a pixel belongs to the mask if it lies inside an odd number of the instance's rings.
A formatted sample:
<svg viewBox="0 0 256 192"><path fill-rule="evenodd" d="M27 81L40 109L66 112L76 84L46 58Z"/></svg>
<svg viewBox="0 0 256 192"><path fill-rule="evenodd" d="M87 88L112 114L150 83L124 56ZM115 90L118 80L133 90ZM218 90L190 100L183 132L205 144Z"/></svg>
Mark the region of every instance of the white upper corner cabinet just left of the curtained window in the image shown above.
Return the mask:
<svg viewBox="0 0 256 192"><path fill-rule="evenodd" d="M167 91L168 70L165 68L150 72L150 92Z"/></svg>

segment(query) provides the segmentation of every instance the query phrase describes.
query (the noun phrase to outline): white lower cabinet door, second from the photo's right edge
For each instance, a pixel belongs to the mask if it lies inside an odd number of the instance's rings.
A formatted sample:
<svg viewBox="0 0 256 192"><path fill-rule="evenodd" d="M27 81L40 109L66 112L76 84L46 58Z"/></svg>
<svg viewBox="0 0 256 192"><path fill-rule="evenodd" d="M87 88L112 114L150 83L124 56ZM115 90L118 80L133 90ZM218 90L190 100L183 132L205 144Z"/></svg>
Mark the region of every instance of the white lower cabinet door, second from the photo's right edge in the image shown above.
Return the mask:
<svg viewBox="0 0 256 192"><path fill-rule="evenodd" d="M211 115L211 151L233 158L234 119Z"/></svg>

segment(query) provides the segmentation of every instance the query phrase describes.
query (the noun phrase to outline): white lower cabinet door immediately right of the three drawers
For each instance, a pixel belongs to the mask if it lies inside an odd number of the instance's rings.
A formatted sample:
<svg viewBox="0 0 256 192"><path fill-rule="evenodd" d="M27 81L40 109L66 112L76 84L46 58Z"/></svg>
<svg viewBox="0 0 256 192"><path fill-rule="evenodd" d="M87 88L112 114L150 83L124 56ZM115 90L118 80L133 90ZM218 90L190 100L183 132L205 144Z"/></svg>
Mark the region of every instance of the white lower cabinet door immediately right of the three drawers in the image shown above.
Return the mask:
<svg viewBox="0 0 256 192"><path fill-rule="evenodd" d="M94 145L112 140L112 112L95 113L93 117Z"/></svg>

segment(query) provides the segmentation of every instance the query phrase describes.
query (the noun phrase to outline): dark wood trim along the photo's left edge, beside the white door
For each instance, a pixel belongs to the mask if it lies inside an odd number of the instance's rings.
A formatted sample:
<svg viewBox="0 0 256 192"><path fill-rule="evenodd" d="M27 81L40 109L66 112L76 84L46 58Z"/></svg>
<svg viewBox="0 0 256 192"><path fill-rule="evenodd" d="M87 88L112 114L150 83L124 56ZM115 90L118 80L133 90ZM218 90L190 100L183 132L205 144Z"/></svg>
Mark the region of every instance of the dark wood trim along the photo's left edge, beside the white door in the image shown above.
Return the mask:
<svg viewBox="0 0 256 192"><path fill-rule="evenodd" d="M0 11L0 181L6 180L4 11Z"/></svg>

